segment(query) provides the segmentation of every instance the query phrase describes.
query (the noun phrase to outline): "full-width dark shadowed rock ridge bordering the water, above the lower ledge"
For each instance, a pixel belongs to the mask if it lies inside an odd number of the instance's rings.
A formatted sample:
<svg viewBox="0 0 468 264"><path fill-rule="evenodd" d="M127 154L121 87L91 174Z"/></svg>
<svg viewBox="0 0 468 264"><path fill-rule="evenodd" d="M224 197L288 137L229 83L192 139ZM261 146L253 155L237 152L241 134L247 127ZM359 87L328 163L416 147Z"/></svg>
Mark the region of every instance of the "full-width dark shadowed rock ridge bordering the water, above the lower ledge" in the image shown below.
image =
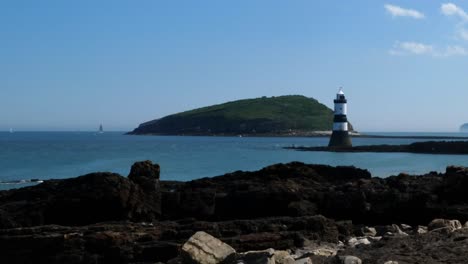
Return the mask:
<svg viewBox="0 0 468 264"><path fill-rule="evenodd" d="M136 163L128 178L92 173L0 192L0 225L316 214L369 225L468 220L468 170L458 167L381 179L354 167L292 162L190 182L158 178L159 166L146 161Z"/></svg>

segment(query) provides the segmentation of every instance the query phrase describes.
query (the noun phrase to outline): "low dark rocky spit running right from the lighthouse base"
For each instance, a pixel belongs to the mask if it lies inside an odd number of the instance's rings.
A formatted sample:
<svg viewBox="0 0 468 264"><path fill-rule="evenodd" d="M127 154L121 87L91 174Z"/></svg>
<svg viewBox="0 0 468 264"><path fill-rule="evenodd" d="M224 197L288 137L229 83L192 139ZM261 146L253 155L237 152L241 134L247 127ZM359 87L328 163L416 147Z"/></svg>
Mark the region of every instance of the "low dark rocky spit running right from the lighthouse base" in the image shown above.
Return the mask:
<svg viewBox="0 0 468 264"><path fill-rule="evenodd" d="M286 149L299 151L330 152L407 152L419 154L468 154L468 141L425 141L408 145L364 145L353 147L304 147L291 146Z"/></svg>

